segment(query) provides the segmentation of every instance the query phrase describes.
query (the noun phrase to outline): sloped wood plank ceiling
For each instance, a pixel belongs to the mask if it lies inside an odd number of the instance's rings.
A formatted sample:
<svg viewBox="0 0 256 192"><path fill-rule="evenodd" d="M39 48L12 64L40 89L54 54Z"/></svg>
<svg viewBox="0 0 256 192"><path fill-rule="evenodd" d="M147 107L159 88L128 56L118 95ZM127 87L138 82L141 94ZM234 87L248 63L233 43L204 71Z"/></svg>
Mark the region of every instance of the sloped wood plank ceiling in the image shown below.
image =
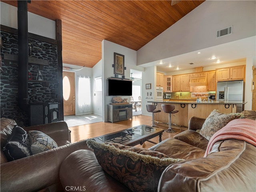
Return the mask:
<svg viewBox="0 0 256 192"><path fill-rule="evenodd" d="M17 7L17 1L1 0ZM177 1L178 2L178 1ZM62 60L92 68L108 40L139 50L204 0L32 0L28 11L62 20Z"/></svg>

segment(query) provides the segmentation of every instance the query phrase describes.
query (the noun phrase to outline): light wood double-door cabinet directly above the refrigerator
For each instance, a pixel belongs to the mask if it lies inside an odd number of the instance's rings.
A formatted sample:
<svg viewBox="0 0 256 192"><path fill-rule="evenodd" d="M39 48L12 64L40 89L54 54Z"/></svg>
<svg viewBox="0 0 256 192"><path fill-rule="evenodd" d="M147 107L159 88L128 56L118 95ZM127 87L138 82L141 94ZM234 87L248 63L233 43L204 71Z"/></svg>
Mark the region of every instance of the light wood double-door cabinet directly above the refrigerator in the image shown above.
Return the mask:
<svg viewBox="0 0 256 192"><path fill-rule="evenodd" d="M217 81L244 80L245 65L216 70Z"/></svg>

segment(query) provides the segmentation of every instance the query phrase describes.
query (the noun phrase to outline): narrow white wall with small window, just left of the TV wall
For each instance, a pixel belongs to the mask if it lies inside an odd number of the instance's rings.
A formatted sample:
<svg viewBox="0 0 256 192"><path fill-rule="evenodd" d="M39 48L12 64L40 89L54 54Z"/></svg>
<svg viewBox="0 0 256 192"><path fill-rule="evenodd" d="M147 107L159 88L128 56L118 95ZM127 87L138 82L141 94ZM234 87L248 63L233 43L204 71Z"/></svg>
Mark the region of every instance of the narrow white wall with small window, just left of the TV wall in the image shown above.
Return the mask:
<svg viewBox="0 0 256 192"><path fill-rule="evenodd" d="M94 90L94 78L102 77L102 60L92 68L92 113L102 115L102 91ZM104 80L103 80L104 82Z"/></svg>

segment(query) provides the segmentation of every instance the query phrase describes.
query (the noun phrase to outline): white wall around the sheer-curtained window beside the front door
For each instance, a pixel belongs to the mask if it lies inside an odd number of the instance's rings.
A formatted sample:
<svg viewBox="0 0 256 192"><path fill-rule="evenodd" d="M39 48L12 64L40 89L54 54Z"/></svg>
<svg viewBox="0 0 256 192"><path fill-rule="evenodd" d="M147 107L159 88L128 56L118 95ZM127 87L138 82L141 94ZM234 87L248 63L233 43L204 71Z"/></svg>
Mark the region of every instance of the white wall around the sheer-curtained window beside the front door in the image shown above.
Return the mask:
<svg viewBox="0 0 256 192"><path fill-rule="evenodd" d="M63 63L63 66L74 68L74 69L81 68L81 66L65 64L65 63ZM90 77L90 86L91 86L91 95L92 95L92 90L93 90L93 88L92 88L92 81L94 80L92 78L92 68L84 67L82 70L79 70L79 71L69 71L69 72L74 72L75 73L76 115L91 114L92 113L92 96L91 96L91 110L90 110L90 112L86 112L86 113L79 112L79 106L78 106L78 102L77 101L78 101L78 76L88 76L88 77Z"/></svg>

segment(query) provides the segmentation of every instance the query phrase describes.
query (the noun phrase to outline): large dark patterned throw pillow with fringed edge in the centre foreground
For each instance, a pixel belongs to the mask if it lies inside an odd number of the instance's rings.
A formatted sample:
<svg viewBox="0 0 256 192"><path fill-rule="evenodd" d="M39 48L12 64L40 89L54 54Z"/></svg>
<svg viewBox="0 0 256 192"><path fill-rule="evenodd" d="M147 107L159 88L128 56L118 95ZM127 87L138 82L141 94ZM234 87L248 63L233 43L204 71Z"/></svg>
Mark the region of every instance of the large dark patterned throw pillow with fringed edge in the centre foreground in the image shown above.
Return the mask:
<svg viewBox="0 0 256 192"><path fill-rule="evenodd" d="M168 158L160 152L116 143L87 141L98 163L110 176L136 192L155 192L164 169L183 159Z"/></svg>

